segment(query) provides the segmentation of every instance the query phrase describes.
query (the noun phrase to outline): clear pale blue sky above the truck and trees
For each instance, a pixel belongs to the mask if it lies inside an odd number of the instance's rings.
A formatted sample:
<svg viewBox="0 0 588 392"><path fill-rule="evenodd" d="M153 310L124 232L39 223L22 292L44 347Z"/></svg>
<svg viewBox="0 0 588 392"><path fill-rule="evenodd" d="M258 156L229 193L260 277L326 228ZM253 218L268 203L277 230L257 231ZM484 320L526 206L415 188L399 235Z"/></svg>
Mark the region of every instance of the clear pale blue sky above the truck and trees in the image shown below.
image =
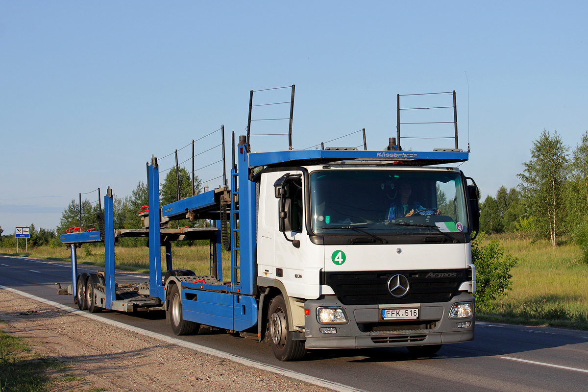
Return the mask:
<svg viewBox="0 0 588 392"><path fill-rule="evenodd" d="M471 148L460 168L494 195L519 183L543 129L572 149L588 129L587 16L580 1L0 0L0 226L53 228L97 187L130 195L152 154L220 125L229 141L245 133L251 89L292 84L295 149L362 128L382 149L397 93L455 90L459 147ZM252 133L288 127L260 123ZM361 144L349 138L337 143ZM252 138L253 150L284 148Z"/></svg>

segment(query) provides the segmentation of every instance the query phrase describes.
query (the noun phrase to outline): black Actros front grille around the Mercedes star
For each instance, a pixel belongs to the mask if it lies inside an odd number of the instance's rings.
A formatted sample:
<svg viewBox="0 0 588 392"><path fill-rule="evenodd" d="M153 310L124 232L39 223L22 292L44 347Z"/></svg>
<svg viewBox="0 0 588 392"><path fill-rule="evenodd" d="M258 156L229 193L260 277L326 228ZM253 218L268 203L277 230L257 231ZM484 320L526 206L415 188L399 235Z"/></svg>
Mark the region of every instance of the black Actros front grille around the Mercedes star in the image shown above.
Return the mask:
<svg viewBox="0 0 588 392"><path fill-rule="evenodd" d="M430 276L431 272L442 277ZM409 292L402 298L393 297L388 290L388 280L397 273L406 276L410 284ZM469 279L465 269L325 273L325 284L345 305L446 302L459 294L460 284Z"/></svg>

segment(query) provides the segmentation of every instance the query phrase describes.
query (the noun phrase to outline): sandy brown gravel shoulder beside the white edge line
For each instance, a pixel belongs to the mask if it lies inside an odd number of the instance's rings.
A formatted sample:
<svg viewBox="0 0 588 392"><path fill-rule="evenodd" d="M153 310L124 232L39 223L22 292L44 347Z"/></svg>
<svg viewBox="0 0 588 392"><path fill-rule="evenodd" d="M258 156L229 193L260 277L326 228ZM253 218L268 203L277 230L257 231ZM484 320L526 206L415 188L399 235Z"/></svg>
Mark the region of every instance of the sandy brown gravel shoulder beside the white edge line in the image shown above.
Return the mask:
<svg viewBox="0 0 588 392"><path fill-rule="evenodd" d="M68 365L49 374L51 391L330 391L118 329L2 289L0 320L6 322L0 329L24 338L39 356Z"/></svg>

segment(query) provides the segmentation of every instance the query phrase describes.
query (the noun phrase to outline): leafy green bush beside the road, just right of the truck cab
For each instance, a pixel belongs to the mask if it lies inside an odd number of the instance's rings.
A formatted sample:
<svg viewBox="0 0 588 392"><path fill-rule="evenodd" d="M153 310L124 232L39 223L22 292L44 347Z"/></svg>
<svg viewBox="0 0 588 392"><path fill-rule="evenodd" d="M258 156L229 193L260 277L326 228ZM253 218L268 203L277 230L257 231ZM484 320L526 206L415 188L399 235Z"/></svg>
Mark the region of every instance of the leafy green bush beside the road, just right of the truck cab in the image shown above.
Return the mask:
<svg viewBox="0 0 588 392"><path fill-rule="evenodd" d="M480 245L480 240L477 240L472 242L472 263L476 266L476 306L488 309L492 300L512 287L510 270L517 259L505 254L497 240L485 245Z"/></svg>

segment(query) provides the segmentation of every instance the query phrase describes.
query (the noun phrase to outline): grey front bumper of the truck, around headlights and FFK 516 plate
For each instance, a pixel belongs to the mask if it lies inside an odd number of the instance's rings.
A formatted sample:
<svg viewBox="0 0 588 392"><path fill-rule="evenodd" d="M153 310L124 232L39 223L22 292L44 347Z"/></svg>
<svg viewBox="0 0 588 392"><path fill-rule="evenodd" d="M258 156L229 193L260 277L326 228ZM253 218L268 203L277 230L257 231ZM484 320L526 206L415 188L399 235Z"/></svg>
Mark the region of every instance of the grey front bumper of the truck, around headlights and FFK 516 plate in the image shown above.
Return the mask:
<svg viewBox="0 0 588 392"><path fill-rule="evenodd" d="M336 296L308 300L305 309L305 347L307 349L359 349L367 347L423 346L425 344L459 343L474 338L474 312L472 316L450 319L453 304L471 302L469 293L453 297L443 303L360 305L347 306ZM316 317L318 307L340 307L345 310L345 324L321 324ZM418 320L382 320L382 309L419 309ZM469 323L469 324L468 324Z"/></svg>

